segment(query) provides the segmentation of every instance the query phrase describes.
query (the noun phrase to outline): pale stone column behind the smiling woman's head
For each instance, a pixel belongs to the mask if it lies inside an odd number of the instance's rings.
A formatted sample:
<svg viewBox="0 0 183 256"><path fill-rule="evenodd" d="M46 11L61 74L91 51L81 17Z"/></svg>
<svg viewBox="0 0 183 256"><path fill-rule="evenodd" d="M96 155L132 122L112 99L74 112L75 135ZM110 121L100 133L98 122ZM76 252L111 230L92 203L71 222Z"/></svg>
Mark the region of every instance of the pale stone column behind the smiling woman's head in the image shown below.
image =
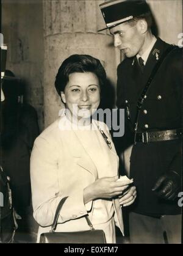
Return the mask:
<svg viewBox="0 0 183 256"><path fill-rule="evenodd" d="M60 64L71 54L90 54L101 60L107 76L116 83L120 52L113 48L109 31L99 10L104 1L43 1L45 127L59 117L62 108L54 88Z"/></svg>

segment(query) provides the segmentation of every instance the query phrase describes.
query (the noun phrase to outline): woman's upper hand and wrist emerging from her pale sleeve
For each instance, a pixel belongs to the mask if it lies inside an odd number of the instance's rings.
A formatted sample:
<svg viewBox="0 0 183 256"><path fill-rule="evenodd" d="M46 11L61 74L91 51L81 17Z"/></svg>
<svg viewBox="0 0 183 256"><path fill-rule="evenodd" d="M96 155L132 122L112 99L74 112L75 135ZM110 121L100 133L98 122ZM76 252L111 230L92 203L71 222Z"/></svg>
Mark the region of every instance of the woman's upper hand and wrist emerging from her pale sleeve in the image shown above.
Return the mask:
<svg viewBox="0 0 183 256"><path fill-rule="evenodd" d="M121 195L133 180L117 181L118 176L103 177L84 189L84 203L94 199L111 199Z"/></svg>

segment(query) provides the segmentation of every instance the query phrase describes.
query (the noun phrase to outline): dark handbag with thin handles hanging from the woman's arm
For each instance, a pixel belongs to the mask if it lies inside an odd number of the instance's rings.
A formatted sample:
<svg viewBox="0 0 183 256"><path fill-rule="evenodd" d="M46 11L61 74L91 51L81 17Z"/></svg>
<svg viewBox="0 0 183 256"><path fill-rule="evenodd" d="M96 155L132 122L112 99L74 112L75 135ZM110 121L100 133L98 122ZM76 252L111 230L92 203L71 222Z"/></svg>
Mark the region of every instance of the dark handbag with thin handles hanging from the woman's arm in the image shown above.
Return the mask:
<svg viewBox="0 0 183 256"><path fill-rule="evenodd" d="M54 216L54 221L51 225L51 230L47 233L41 233L40 243L106 244L106 236L104 231L94 229L88 216L85 216L85 219L90 227L90 230L76 232L55 232L60 210L62 209L63 203L67 198L68 197L63 197L63 199L60 200Z"/></svg>

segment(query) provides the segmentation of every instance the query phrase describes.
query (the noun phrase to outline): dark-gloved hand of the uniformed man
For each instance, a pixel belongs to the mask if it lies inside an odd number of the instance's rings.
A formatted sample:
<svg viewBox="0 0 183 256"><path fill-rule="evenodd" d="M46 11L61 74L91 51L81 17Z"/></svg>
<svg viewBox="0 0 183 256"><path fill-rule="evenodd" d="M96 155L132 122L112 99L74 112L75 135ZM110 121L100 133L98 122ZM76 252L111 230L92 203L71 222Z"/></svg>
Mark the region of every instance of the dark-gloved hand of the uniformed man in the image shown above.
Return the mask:
<svg viewBox="0 0 183 256"><path fill-rule="evenodd" d="M152 191L155 191L157 196L165 200L174 200L178 196L181 189L181 177L174 171L162 175L157 181Z"/></svg>

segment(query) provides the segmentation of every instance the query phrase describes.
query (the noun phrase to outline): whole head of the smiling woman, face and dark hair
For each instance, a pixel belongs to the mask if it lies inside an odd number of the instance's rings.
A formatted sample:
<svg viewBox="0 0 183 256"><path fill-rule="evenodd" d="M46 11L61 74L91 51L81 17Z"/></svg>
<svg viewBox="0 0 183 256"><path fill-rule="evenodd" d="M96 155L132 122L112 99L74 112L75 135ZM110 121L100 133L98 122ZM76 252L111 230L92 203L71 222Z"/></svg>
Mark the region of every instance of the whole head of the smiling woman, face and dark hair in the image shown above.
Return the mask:
<svg viewBox="0 0 183 256"><path fill-rule="evenodd" d="M55 86L70 118L89 119L100 103L106 72L98 59L74 54L59 68Z"/></svg>

